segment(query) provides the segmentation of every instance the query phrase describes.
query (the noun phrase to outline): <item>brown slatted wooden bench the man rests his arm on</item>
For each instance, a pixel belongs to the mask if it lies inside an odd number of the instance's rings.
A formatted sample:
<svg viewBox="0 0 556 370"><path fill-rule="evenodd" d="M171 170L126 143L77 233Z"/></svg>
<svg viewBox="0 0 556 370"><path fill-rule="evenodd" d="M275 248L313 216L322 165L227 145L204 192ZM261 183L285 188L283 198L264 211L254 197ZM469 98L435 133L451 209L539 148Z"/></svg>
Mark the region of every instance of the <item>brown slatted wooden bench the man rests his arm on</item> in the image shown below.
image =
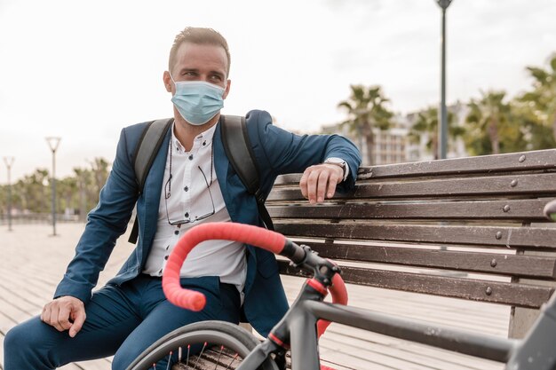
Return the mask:
<svg viewBox="0 0 556 370"><path fill-rule="evenodd" d="M512 338L552 295L556 150L365 167L322 205L299 179L279 177L266 201L275 229L338 261L346 282L509 305Z"/></svg>

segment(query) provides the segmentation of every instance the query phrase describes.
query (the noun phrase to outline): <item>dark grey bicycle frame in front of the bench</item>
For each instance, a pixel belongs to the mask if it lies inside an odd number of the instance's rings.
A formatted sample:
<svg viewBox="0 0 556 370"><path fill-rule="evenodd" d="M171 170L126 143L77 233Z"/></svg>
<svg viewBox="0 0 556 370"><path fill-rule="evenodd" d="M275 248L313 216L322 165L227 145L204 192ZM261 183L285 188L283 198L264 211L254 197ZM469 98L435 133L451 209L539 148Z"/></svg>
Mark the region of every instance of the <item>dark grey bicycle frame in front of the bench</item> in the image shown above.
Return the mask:
<svg viewBox="0 0 556 370"><path fill-rule="evenodd" d="M523 340L433 326L375 311L323 303L321 299L318 292L305 284L290 311L274 327L271 335L243 359L237 370L257 369L271 353L280 353L288 347L283 342L290 342L292 370L319 370L316 334L319 319L478 358L507 362L507 369L553 370L556 366L556 295L544 306L536 325ZM278 340L277 335L281 335Z"/></svg>

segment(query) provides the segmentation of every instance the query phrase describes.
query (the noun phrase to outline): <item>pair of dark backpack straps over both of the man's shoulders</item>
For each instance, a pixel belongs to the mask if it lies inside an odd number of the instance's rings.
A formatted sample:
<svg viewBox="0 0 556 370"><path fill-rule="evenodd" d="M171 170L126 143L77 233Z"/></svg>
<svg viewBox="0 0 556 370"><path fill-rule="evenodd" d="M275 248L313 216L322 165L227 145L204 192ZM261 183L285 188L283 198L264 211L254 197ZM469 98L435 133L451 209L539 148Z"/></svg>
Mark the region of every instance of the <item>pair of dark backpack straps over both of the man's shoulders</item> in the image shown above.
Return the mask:
<svg viewBox="0 0 556 370"><path fill-rule="evenodd" d="M242 180L242 184L247 188L247 192L255 196L258 214L266 228L274 230L272 218L265 207L265 195L260 189L255 154L253 154L253 149L250 145L245 117L239 115L222 115L221 117L220 133L227 159L232 163L232 167L234 167L235 172ZM163 145L163 140L168 130L170 130L173 121L173 118L164 118L149 122L143 130L141 138L139 138L139 143L133 155L133 168L135 169L135 179L139 186L139 194L143 192L148 172L153 165L153 161L155 161L156 154L158 154L160 147ZM138 236L139 222L136 216L129 241L135 244Z"/></svg>

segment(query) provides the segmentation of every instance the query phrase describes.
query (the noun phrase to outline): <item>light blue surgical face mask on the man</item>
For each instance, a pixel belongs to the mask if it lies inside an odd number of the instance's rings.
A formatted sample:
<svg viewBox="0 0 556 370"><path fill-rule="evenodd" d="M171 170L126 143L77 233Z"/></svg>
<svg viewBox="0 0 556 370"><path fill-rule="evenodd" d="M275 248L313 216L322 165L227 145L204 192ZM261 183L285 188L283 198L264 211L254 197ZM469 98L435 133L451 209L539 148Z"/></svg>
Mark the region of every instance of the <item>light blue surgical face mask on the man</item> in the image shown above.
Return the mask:
<svg viewBox="0 0 556 370"><path fill-rule="evenodd" d="M209 122L224 106L224 89L220 86L204 81L175 82L172 77L171 81L176 85L172 103L184 120L195 126Z"/></svg>

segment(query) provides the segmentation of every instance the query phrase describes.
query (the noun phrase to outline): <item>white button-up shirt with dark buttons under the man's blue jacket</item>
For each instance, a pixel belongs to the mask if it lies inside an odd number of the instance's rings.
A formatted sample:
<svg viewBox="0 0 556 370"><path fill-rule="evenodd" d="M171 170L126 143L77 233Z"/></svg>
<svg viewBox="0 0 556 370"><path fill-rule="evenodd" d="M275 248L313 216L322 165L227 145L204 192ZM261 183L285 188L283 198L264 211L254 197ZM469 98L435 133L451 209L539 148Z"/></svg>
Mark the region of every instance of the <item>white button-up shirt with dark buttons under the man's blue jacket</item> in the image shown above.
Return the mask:
<svg viewBox="0 0 556 370"><path fill-rule="evenodd" d="M162 276L171 250L191 227L196 224L231 220L214 169L212 138L215 130L216 125L198 135L192 149L186 152L174 135L172 124L155 239L143 273ZM207 216L212 211L214 214ZM203 219L196 221L198 217ZM172 226L169 219L171 223L184 220L188 223ZM242 243L207 240L189 253L180 275L182 278L219 276L221 282L234 284L242 293L247 274L246 265L245 248Z"/></svg>

